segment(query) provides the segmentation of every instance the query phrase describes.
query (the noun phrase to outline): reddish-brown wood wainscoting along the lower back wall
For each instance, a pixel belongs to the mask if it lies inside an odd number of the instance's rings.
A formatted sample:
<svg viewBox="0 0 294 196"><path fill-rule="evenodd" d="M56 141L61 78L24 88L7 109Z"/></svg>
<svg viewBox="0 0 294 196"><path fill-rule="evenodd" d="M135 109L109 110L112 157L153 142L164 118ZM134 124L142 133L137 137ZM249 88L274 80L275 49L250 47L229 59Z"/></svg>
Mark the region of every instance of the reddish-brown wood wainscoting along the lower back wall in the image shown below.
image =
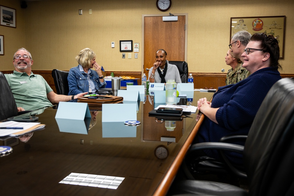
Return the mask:
<svg viewBox="0 0 294 196"><path fill-rule="evenodd" d="M67 70L68 71L68 70ZM13 73L13 71L1 71L2 73ZM56 93L54 80L52 78L52 70L32 70L34 74L39 74L47 81L49 86ZM110 75L111 71L107 71L106 75ZM218 88L219 86L225 85L226 73L192 73L194 77L194 88ZM114 76L129 76L139 78L138 84L141 84L141 72L114 72ZM282 78L292 78L294 74L281 74Z"/></svg>

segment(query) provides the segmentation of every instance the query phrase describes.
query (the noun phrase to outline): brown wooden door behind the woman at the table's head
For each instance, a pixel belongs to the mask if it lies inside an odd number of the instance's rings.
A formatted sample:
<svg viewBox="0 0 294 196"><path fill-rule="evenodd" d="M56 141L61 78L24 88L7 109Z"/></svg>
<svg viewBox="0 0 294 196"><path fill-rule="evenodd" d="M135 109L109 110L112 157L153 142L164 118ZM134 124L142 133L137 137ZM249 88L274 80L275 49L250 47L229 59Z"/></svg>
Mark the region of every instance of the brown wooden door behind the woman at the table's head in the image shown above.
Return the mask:
<svg viewBox="0 0 294 196"><path fill-rule="evenodd" d="M148 77L158 49L167 52L167 60L185 61L186 16L177 21L162 21L162 16L144 17L144 73ZM148 79L148 78L147 78Z"/></svg>

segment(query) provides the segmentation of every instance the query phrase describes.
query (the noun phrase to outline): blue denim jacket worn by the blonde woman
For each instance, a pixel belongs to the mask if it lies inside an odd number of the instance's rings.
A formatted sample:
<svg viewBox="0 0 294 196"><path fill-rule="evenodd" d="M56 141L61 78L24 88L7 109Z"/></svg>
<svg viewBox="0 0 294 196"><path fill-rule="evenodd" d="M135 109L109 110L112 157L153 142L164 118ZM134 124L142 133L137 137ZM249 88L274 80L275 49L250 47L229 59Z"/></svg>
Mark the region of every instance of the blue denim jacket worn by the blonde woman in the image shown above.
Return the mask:
<svg viewBox="0 0 294 196"><path fill-rule="evenodd" d="M99 88L105 88L106 82L103 83L99 81L99 76L95 70L91 70L90 79L94 81L95 87L98 90ZM84 93L89 91L89 82L87 79L87 73L79 70L79 66L73 67L69 70L67 76L69 93L68 95L77 95L79 93Z"/></svg>

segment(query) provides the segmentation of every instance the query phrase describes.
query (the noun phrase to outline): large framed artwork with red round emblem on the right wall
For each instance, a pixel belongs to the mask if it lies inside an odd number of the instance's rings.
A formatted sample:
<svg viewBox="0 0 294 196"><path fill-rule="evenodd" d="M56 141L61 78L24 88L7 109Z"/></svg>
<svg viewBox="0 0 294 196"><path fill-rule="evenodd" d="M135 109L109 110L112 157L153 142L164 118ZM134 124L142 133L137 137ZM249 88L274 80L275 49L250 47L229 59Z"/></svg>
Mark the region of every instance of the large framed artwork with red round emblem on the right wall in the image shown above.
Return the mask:
<svg viewBox="0 0 294 196"><path fill-rule="evenodd" d="M251 35L265 33L273 35L279 42L280 59L284 58L285 43L285 19L286 16L261 16L261 17L237 17L231 18L230 41L238 31L248 31Z"/></svg>

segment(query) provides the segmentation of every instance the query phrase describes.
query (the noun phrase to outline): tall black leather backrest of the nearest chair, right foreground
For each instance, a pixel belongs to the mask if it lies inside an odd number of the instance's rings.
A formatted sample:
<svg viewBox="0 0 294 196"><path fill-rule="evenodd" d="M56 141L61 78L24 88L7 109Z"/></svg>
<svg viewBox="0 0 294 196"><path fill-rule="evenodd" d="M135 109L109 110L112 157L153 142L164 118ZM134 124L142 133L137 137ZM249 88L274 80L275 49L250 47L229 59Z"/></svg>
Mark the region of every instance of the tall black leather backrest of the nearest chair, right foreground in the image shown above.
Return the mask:
<svg viewBox="0 0 294 196"><path fill-rule="evenodd" d="M293 195L294 80L276 82L261 104L243 152L249 195Z"/></svg>

